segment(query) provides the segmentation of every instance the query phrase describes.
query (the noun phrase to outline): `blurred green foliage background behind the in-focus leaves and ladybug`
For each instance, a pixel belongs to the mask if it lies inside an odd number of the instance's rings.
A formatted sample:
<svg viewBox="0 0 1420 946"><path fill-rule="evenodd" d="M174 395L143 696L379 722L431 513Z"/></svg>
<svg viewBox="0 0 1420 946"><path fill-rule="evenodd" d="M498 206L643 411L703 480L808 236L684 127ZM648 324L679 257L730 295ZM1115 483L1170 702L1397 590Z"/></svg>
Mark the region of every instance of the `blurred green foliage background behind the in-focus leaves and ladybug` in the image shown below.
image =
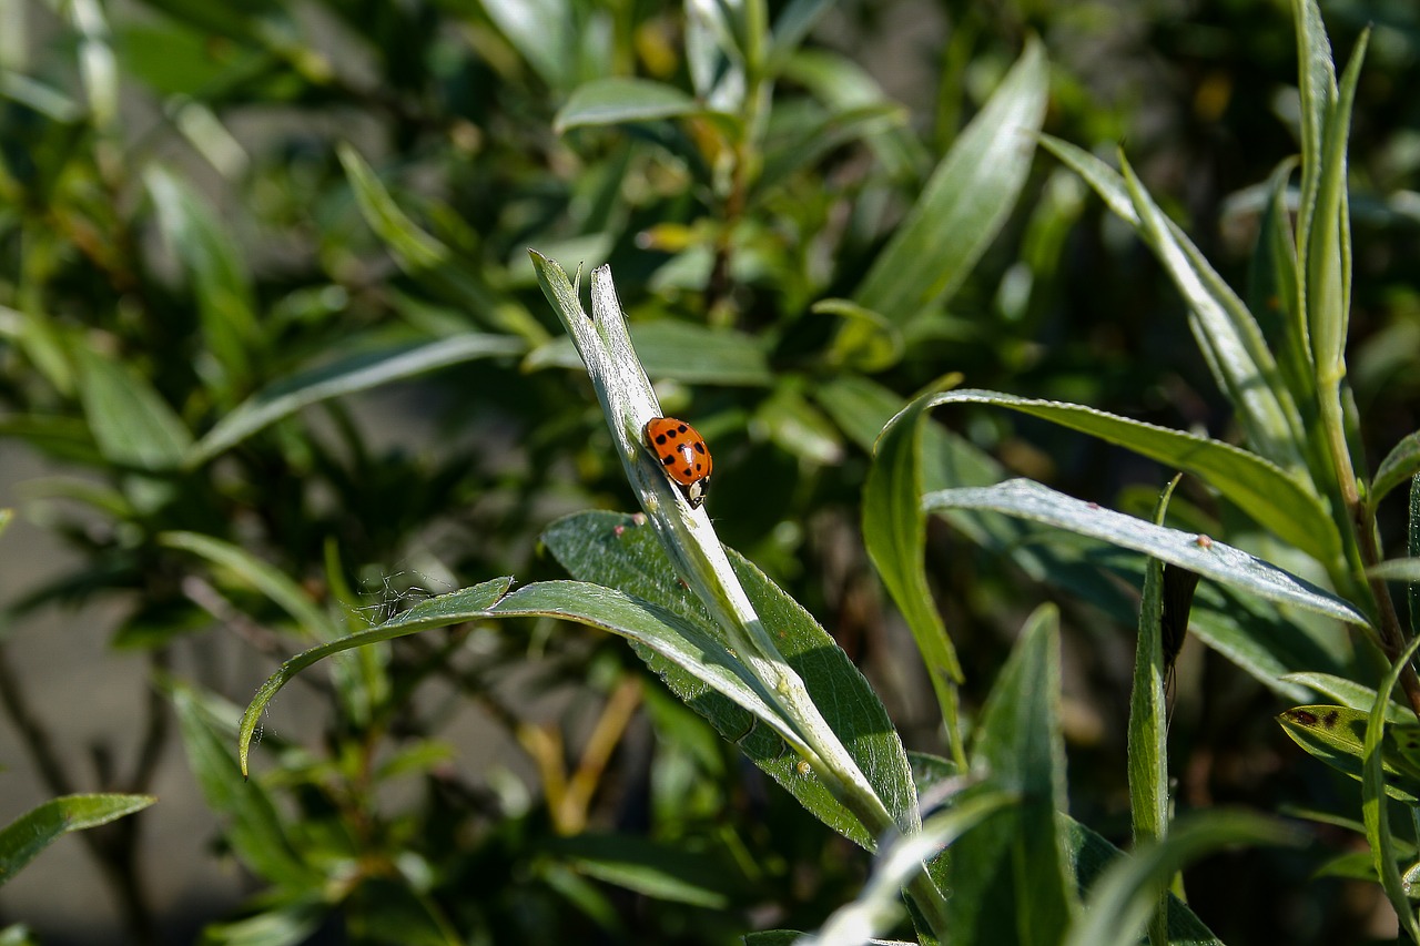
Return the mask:
<svg viewBox="0 0 1420 946"><path fill-rule="evenodd" d="M203 746L230 750L233 707L310 643L251 561L355 629L496 575L559 577L548 524L632 509L528 247L612 264L663 403L714 447L721 538L824 622L909 747L939 750L939 720L858 535L868 456L825 391L900 403L960 371L1228 436L1172 284L1044 153L949 305L905 327L812 305L852 295L1031 36L1047 131L1123 148L1245 286L1264 185L1296 151L1289 4L770 3L808 33L740 99L753 134L558 125L609 75L713 87L693 55L713 6L0 0L0 506L18 511L0 535L0 820L64 791L159 795L48 851L0 889L0 919L47 943L209 925L209 942L733 942L812 928L862 882L861 852L621 642L565 626L416 638L349 669L365 689L293 686L257 774L300 869L203 783L220 770ZM1375 30L1349 169L1350 381L1375 462L1420 428L1420 9L1322 11L1338 60ZM362 205L362 173L390 203ZM362 365L341 396L291 399ZM1083 499L1142 511L1166 477L1047 425L940 415ZM214 565L175 533L247 558ZM944 527L932 540L971 706L1058 595ZM1059 602L1072 814L1120 839L1133 631ZM1274 724L1282 702L1217 655L1186 649L1174 700L1181 807L1355 807ZM1216 858L1191 901L1230 943L1384 939L1373 886L1309 879L1348 844ZM609 851L674 852L723 889L686 902ZM248 915L277 933L241 940Z"/></svg>

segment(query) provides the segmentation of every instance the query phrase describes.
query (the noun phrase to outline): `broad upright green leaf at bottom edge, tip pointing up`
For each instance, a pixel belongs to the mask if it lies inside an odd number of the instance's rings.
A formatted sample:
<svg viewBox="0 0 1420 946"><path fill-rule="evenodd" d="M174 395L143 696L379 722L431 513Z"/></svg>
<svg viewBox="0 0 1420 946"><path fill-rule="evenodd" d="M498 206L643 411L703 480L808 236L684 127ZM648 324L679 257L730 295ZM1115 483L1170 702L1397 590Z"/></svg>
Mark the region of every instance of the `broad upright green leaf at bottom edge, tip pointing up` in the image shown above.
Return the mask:
<svg viewBox="0 0 1420 946"><path fill-rule="evenodd" d="M951 892L953 942L1054 946L1076 909L1056 827L1066 808L1059 675L1058 616L1047 605L1027 621L981 707L971 768L985 777L961 793L1005 791L1020 804L961 838L944 871L933 862L937 885Z"/></svg>

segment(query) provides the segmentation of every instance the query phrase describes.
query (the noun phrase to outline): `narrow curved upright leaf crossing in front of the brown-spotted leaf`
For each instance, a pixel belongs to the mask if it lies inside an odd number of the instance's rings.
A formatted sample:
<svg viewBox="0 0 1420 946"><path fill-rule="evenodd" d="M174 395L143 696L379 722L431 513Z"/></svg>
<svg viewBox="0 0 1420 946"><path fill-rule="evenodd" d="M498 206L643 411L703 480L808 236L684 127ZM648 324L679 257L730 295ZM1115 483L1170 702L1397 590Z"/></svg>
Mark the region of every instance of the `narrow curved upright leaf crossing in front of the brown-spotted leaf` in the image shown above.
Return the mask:
<svg viewBox="0 0 1420 946"><path fill-rule="evenodd" d="M1410 642L1394 665L1382 678L1376 690L1376 702L1366 717L1366 739L1362 749L1362 778L1360 778L1360 811L1366 822L1366 841L1370 842L1372 862L1376 874L1380 875L1380 885L1386 891L1386 898L1400 918L1400 929L1411 942L1420 943L1420 923L1416 922L1416 908L1410 902L1407 885L1400 879L1396 869L1397 852L1390 837L1390 784L1386 778L1386 763L1392 757L1386 749L1399 744L1404 753L1404 760L1411 768L1411 777L1420 774L1420 724L1410 726L1403 732L1399 727L1386 729L1386 707L1390 705L1390 692L1400 680L1400 673L1410 666L1410 659L1420 649L1420 636ZM1390 739L1387 739L1390 737ZM1394 740L1392 743L1392 740ZM1384 749L1383 749L1384 746ZM1413 801L1410 804L1414 804Z"/></svg>

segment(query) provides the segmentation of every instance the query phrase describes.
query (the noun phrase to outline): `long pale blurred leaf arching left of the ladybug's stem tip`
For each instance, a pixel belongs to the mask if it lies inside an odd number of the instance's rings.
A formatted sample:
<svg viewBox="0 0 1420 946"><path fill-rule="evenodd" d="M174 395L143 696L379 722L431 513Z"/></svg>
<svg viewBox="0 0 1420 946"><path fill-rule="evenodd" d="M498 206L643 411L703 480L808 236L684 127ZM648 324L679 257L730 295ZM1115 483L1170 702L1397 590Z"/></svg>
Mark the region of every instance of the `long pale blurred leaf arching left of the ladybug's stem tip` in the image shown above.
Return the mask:
<svg viewBox="0 0 1420 946"><path fill-rule="evenodd" d="M257 430L288 418L312 403L392 381L462 365L477 358L518 355L527 345L520 338L467 332L430 342L403 344L338 358L267 385L219 420L187 455L187 466L200 466L231 449Z"/></svg>

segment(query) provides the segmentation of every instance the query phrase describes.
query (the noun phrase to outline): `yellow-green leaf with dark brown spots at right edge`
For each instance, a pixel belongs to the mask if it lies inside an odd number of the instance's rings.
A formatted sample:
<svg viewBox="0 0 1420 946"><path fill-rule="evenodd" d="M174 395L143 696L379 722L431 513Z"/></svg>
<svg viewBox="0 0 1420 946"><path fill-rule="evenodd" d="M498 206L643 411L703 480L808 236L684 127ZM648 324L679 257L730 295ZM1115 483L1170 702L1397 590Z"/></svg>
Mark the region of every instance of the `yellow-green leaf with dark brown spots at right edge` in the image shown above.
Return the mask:
<svg viewBox="0 0 1420 946"><path fill-rule="evenodd" d="M1387 719L1393 710L1387 710ZM1277 717L1282 730L1298 746L1322 760L1336 771L1362 781L1365 777L1366 724L1369 709L1349 706L1294 706ZM1396 724L1386 730L1382 741L1382 761L1389 777L1386 793L1397 801L1414 804L1420 801L1420 757L1414 747L1420 744L1420 724L1410 713L1409 724Z"/></svg>

